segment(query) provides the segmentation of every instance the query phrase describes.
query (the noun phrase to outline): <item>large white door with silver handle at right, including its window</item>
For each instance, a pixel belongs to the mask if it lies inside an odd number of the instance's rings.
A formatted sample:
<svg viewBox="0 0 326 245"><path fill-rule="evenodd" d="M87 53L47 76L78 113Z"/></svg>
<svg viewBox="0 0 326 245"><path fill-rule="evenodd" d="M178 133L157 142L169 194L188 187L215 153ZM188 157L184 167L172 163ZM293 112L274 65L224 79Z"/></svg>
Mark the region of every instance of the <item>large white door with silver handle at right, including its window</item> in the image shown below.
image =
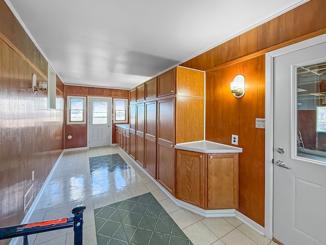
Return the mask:
<svg viewBox="0 0 326 245"><path fill-rule="evenodd" d="M274 58L273 236L285 245L326 244L325 153L321 43Z"/></svg>

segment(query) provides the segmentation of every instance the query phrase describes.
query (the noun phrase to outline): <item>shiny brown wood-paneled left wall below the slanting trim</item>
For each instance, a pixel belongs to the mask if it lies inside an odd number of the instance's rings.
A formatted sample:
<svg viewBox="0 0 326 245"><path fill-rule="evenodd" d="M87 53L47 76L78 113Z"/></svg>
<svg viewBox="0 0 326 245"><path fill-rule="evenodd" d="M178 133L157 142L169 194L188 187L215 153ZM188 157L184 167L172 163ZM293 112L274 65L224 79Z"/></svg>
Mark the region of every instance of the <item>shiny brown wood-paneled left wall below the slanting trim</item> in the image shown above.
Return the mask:
<svg viewBox="0 0 326 245"><path fill-rule="evenodd" d="M0 67L0 227L3 227L20 224L24 217L23 196L32 184L32 171L35 170L35 198L63 151L64 93L57 89L57 110L47 110L47 93L33 94L31 90L32 75L36 74L38 82L44 81L43 76L2 39Z"/></svg>

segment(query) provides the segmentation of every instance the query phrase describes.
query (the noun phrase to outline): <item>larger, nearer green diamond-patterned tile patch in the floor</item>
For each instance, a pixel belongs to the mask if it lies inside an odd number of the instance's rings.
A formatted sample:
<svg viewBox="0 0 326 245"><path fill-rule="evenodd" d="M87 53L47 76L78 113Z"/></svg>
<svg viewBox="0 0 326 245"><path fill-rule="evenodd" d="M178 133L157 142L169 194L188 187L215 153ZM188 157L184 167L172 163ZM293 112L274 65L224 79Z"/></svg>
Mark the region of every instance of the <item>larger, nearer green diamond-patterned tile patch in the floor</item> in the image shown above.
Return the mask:
<svg viewBox="0 0 326 245"><path fill-rule="evenodd" d="M149 192L94 210L97 244L193 244Z"/></svg>

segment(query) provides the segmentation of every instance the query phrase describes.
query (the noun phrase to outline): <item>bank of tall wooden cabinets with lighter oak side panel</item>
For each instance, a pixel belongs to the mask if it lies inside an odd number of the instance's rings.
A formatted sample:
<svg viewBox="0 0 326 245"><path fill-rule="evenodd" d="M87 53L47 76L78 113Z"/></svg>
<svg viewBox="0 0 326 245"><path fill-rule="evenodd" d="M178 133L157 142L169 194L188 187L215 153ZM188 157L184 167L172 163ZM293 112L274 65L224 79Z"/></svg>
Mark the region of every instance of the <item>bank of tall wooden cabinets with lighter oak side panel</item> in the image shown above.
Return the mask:
<svg viewBox="0 0 326 245"><path fill-rule="evenodd" d="M129 154L173 195L174 145L204 139L204 78L177 66L130 90Z"/></svg>

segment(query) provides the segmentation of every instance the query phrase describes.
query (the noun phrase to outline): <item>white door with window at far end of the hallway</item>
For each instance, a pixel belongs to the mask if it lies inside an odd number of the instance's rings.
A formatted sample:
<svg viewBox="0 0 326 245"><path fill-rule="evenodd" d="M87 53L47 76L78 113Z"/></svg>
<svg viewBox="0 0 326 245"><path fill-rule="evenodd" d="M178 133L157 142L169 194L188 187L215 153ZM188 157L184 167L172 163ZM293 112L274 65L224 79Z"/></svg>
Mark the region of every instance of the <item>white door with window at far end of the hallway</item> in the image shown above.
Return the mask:
<svg viewBox="0 0 326 245"><path fill-rule="evenodd" d="M110 145L111 98L90 98L89 111L89 147Z"/></svg>

